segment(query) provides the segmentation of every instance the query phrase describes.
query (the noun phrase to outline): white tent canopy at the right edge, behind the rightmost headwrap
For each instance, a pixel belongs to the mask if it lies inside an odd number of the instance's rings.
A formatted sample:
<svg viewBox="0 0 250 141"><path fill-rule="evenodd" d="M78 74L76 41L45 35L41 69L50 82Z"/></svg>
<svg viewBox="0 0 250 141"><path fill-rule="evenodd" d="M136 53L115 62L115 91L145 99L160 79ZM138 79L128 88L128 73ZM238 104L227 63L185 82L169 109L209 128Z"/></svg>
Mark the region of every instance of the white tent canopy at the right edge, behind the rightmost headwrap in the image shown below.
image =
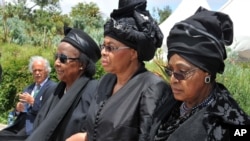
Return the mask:
<svg viewBox="0 0 250 141"><path fill-rule="evenodd" d="M244 59L250 59L250 1L229 0L219 11L230 16L234 25L234 42L229 46Z"/></svg>

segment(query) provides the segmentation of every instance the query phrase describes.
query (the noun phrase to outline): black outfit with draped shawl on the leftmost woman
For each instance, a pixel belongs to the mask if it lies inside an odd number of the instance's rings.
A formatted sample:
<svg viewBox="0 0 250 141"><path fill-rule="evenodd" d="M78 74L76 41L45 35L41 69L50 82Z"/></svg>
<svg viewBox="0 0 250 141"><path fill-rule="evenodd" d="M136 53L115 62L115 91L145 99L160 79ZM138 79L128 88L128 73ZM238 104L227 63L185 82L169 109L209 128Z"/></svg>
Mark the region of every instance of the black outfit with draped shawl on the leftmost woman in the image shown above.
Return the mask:
<svg viewBox="0 0 250 141"><path fill-rule="evenodd" d="M80 132L97 83L83 76L64 94L65 83L60 82L55 94L39 111L35 130L27 141L64 141Z"/></svg>

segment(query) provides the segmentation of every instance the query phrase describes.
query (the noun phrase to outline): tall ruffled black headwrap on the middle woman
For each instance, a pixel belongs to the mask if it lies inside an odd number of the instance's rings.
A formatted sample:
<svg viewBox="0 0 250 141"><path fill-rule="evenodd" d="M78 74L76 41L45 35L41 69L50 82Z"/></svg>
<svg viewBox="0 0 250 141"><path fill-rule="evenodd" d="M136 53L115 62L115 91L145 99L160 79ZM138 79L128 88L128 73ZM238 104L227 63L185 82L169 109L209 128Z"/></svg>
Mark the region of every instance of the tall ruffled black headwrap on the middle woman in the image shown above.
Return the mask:
<svg viewBox="0 0 250 141"><path fill-rule="evenodd" d="M146 0L120 0L119 8L104 25L104 36L112 37L135 49L138 60L148 61L161 47L163 34L146 10Z"/></svg>

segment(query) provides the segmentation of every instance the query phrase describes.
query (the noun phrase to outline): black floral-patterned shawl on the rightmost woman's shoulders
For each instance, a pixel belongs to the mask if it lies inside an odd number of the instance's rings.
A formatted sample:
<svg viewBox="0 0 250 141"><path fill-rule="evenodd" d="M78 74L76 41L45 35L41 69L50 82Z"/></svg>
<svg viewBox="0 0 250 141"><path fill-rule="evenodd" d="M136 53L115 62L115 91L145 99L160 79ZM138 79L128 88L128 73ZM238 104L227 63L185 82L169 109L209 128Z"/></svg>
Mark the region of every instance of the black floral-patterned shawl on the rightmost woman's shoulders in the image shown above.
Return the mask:
<svg viewBox="0 0 250 141"><path fill-rule="evenodd" d="M228 141L230 140L228 131L231 127L250 126L250 117L240 108L224 85L217 83L212 94L215 100L180 124L166 141ZM180 104L175 100L169 101L169 105L171 103ZM165 113L165 116L155 117L150 141L154 141L160 122L170 115L164 105L161 107L161 112Z"/></svg>

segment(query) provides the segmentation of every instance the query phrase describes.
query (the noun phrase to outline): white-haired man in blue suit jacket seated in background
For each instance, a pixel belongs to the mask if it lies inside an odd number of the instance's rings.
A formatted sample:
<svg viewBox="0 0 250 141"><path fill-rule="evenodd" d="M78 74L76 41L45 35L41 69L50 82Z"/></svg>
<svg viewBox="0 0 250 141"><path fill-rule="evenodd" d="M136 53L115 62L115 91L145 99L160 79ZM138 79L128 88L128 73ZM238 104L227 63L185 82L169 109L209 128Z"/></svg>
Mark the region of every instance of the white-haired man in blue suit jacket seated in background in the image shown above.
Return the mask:
<svg viewBox="0 0 250 141"><path fill-rule="evenodd" d="M28 67L34 78L34 83L19 94L19 102L14 112L17 116L16 120L0 131L0 138L3 138L2 136L29 135L38 111L57 85L49 78L51 67L47 59L33 56L29 60ZM8 139L5 138L5 140Z"/></svg>

